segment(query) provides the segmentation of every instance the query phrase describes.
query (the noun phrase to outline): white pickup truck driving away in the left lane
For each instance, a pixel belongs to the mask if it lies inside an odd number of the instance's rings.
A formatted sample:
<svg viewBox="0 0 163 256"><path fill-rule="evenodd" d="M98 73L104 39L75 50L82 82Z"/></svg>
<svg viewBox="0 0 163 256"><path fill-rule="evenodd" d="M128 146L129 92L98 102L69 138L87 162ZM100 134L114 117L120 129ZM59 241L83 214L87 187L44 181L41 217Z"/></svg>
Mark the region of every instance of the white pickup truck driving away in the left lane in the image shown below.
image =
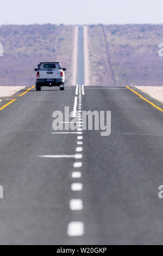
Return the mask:
<svg viewBox="0 0 163 256"><path fill-rule="evenodd" d="M41 91L42 86L59 86L60 90L65 88L66 68L62 68L59 62L41 62L35 69L36 91Z"/></svg>

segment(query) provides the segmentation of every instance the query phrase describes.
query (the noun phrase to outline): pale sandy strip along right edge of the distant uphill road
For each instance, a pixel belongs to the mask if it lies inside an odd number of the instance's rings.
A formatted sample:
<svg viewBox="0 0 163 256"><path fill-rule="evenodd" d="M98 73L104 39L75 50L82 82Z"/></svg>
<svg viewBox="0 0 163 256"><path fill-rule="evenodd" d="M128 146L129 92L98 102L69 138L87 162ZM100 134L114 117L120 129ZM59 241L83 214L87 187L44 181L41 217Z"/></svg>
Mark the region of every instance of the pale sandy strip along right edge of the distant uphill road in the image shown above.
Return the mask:
<svg viewBox="0 0 163 256"><path fill-rule="evenodd" d="M84 33L84 74L85 74L85 81L84 85L88 86L90 84L89 76L90 76L90 65L89 65L89 50L88 50L88 33L87 33L87 26L83 27Z"/></svg>

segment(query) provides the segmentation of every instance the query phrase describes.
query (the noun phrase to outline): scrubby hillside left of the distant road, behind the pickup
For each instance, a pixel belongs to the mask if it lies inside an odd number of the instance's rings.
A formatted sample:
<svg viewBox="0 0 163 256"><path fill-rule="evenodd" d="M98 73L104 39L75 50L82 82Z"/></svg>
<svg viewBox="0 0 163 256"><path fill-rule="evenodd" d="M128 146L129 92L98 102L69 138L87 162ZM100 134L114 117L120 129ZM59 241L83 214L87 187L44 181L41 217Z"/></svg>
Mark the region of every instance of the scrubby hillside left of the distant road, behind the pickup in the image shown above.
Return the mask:
<svg viewBox="0 0 163 256"><path fill-rule="evenodd" d="M30 86L35 83L37 63L59 61L67 68L66 84L72 82L73 26L0 26L0 85Z"/></svg>

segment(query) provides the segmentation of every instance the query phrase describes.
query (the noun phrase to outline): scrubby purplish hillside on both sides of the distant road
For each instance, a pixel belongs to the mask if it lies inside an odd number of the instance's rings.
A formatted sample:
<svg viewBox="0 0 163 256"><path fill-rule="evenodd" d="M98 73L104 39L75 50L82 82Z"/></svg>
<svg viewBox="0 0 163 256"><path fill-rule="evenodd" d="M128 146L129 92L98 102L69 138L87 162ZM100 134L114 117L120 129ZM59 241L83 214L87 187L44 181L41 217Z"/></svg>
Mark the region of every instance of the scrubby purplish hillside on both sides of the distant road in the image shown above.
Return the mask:
<svg viewBox="0 0 163 256"><path fill-rule="evenodd" d="M91 25L88 33L91 85L163 85L163 25ZM41 61L60 61L72 85L73 26L3 25L0 43L0 85L33 85Z"/></svg>

